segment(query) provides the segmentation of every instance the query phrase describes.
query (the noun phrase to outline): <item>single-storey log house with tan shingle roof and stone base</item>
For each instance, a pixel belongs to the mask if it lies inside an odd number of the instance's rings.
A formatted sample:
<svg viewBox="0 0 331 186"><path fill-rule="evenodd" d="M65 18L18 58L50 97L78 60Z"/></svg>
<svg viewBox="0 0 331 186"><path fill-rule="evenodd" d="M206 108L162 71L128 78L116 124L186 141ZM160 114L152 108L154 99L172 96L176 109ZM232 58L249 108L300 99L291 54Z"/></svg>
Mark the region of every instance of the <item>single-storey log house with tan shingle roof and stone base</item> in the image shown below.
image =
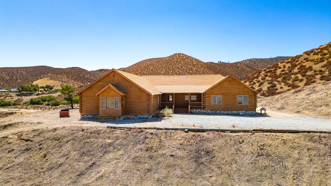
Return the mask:
<svg viewBox="0 0 331 186"><path fill-rule="evenodd" d="M112 69L79 95L81 118L146 118L174 113L254 115L257 92L232 75L134 75Z"/></svg>

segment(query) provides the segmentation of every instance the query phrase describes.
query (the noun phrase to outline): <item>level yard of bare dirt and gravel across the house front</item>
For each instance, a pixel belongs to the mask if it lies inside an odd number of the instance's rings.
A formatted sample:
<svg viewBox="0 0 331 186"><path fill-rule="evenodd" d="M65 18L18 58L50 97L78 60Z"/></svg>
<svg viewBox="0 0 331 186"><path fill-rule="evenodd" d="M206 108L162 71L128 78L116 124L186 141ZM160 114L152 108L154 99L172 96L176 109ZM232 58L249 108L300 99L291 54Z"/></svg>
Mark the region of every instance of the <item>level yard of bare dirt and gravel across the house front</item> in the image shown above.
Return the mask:
<svg viewBox="0 0 331 186"><path fill-rule="evenodd" d="M202 114L173 114L167 119L124 119L105 121L99 119L80 119L78 109L70 111L70 117L60 118L58 110L28 112L17 111L17 114L0 118L0 125L10 125L0 134L17 130L41 127L66 126L123 126L123 127L206 127L206 128L242 128L242 129L300 129L331 131L331 120L308 116L288 115L270 112L271 116L229 116Z"/></svg>

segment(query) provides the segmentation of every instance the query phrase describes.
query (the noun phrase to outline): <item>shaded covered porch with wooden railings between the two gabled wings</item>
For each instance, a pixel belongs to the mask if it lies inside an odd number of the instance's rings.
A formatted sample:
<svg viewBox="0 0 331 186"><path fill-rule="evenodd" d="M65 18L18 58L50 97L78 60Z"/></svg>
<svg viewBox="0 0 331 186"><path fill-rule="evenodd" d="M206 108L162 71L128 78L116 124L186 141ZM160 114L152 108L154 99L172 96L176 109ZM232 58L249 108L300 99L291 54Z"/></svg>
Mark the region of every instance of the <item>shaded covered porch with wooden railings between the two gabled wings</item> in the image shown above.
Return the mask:
<svg viewBox="0 0 331 186"><path fill-rule="evenodd" d="M174 113L190 113L191 109L203 109L203 93L164 93L160 108L172 108Z"/></svg>

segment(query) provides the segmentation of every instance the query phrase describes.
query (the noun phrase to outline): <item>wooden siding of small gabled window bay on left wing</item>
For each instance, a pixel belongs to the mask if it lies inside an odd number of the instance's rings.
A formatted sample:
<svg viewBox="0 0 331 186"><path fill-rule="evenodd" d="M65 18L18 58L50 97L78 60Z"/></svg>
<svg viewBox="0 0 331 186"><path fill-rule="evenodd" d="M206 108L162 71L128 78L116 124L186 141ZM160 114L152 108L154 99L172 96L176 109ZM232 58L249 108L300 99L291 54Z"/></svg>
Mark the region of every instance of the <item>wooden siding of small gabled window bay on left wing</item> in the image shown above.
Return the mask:
<svg viewBox="0 0 331 186"><path fill-rule="evenodd" d="M121 95L118 94L115 90L107 88L99 94L99 116L121 116L121 105L119 102L119 108L101 108L101 98L118 98L121 99ZM107 105L107 104L106 104Z"/></svg>

